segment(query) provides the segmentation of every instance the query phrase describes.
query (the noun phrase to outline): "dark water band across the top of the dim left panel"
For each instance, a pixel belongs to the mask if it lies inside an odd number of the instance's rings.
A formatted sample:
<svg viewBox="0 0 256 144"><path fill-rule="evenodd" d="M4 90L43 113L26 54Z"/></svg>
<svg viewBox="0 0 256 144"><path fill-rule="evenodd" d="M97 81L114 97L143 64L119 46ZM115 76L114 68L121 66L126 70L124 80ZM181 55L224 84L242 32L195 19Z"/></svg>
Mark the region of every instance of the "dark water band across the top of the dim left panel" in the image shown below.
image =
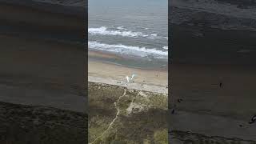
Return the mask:
<svg viewBox="0 0 256 144"><path fill-rule="evenodd" d="M84 43L86 7L77 10L74 6L28 0L0 3L0 34Z"/></svg>

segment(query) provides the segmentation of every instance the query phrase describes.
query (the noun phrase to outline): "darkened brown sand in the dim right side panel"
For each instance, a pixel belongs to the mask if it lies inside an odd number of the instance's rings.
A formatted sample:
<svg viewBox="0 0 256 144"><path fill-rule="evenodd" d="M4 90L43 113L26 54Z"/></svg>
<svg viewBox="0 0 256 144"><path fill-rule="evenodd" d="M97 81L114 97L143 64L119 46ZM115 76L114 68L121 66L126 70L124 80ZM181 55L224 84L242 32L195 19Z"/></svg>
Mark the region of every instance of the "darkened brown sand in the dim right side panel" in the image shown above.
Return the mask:
<svg viewBox="0 0 256 144"><path fill-rule="evenodd" d="M255 140L255 125L248 124L256 109L255 69L179 64L170 70L170 130Z"/></svg>

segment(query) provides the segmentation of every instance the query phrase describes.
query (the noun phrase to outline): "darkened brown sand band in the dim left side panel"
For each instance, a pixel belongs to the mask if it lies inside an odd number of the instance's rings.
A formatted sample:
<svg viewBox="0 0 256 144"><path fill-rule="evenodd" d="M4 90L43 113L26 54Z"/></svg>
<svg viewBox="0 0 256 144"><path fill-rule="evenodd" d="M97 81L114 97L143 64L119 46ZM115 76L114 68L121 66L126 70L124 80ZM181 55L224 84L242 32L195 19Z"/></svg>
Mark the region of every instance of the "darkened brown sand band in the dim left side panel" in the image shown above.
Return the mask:
<svg viewBox="0 0 256 144"><path fill-rule="evenodd" d="M1 101L86 111L83 46L0 37Z"/></svg>

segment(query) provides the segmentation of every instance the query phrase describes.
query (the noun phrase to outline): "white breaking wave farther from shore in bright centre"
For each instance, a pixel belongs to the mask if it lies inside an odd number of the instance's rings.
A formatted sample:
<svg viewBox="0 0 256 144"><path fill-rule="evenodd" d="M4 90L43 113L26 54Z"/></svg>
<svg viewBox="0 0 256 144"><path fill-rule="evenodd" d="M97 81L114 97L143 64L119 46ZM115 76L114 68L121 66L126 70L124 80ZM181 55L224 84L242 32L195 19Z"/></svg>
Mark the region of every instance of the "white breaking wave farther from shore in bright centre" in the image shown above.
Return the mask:
<svg viewBox="0 0 256 144"><path fill-rule="evenodd" d="M122 37L131 37L131 38L138 38L138 37L150 38L150 39L161 38L158 36L158 34L143 34L142 32L134 32L131 30L127 30L123 26L118 26L117 28L115 28L115 30L108 30L106 26L101 26L98 28L89 28L88 32L90 34L118 35Z"/></svg>

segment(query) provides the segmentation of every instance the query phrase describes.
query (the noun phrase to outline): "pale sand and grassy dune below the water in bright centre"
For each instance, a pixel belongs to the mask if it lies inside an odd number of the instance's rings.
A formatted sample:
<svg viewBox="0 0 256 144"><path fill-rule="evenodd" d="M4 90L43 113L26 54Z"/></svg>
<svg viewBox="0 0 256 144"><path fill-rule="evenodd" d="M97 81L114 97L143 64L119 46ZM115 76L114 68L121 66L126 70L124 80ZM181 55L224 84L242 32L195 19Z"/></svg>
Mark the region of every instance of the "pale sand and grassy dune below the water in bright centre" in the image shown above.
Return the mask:
<svg viewBox="0 0 256 144"><path fill-rule="evenodd" d="M100 58L123 59L89 51L89 142L166 144L167 70L133 68ZM134 79L127 83L126 75L132 74Z"/></svg>

